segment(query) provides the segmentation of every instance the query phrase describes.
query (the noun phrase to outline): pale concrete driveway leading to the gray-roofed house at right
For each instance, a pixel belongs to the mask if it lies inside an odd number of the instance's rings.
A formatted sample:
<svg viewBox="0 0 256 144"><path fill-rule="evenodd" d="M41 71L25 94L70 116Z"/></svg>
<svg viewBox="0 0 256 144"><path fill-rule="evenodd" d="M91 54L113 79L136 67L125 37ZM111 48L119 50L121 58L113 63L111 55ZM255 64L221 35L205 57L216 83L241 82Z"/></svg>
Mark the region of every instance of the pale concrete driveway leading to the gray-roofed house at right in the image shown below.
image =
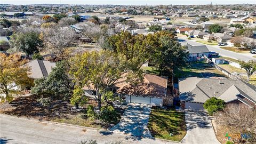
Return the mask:
<svg viewBox="0 0 256 144"><path fill-rule="evenodd" d="M182 143L186 144L220 144L217 140L211 118L205 111L185 111L187 134Z"/></svg>

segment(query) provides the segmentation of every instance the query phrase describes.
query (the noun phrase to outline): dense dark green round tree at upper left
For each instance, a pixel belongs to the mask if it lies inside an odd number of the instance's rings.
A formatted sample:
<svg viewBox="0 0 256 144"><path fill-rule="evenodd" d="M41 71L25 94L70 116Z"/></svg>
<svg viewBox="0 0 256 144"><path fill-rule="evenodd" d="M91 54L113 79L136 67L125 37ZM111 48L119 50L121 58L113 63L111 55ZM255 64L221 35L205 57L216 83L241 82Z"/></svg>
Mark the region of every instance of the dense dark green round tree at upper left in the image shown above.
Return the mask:
<svg viewBox="0 0 256 144"><path fill-rule="evenodd" d="M43 41L36 31L20 31L12 35L10 45L15 51L22 51L26 55L30 55L39 52L38 49L43 46Z"/></svg>

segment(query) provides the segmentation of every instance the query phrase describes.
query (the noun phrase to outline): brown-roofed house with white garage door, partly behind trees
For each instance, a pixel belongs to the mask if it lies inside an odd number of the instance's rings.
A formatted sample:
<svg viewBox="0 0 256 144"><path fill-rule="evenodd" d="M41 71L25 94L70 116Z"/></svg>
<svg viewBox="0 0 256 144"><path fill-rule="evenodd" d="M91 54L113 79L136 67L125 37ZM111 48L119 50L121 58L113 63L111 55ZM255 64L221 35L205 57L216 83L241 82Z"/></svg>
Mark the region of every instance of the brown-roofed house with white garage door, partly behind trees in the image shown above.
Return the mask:
<svg viewBox="0 0 256 144"><path fill-rule="evenodd" d="M144 74L143 80L138 85L132 85L126 82L126 74L118 79L115 83L114 92L125 99L127 103L145 103L151 106L163 106L163 102L168 97L167 95L167 77ZM96 93L93 86L92 90L84 87L87 97L94 97Z"/></svg>

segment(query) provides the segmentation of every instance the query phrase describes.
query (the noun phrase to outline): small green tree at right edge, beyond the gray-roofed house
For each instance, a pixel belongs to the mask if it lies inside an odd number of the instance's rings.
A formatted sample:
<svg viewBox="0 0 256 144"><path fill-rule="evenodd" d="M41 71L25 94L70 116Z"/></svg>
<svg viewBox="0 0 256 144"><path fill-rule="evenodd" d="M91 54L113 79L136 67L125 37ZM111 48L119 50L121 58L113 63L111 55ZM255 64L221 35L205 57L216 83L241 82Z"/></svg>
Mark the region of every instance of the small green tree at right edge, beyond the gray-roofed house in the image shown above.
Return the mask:
<svg viewBox="0 0 256 144"><path fill-rule="evenodd" d="M241 68L246 70L247 74L247 81L250 81L251 75L256 71L256 61L255 60L249 60L249 61L241 61L239 60L239 65Z"/></svg>

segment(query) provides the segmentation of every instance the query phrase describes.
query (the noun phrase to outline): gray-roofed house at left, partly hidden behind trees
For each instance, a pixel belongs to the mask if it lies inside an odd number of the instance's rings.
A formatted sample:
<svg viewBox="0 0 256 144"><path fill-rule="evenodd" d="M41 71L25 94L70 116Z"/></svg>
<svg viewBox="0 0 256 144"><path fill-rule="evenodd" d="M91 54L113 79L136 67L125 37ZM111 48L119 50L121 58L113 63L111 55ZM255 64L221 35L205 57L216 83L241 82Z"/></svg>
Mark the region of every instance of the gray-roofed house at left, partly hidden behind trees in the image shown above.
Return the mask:
<svg viewBox="0 0 256 144"><path fill-rule="evenodd" d="M55 62L36 59L26 63L25 66L28 66L31 69L29 77L36 79L49 76L52 68L55 68L56 64Z"/></svg>

